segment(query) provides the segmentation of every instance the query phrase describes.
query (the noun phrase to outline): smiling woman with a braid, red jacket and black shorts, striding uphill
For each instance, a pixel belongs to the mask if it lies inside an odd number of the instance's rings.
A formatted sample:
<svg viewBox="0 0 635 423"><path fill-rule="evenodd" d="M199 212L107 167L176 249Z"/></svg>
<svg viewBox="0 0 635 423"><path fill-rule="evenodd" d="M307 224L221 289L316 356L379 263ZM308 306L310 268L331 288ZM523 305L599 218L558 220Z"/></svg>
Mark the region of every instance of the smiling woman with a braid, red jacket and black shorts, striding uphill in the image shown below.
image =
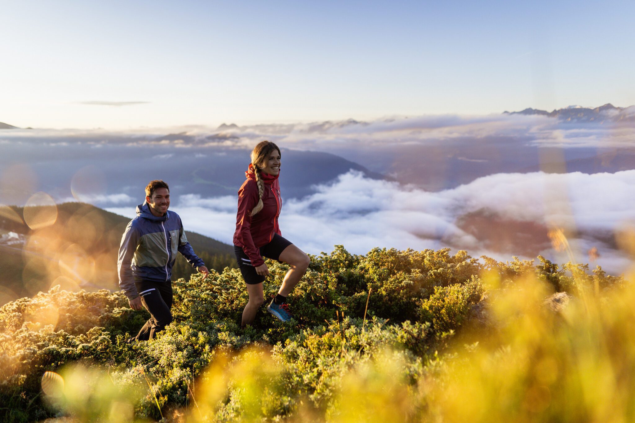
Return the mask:
<svg viewBox="0 0 635 423"><path fill-rule="evenodd" d="M280 233L277 222L282 207L279 173L280 149L270 141L258 143L251 152L251 164L245 172L247 179L238 190L234 232L234 252L249 292L249 301L243 311L243 327L253 322L264 302L262 282L269 270L263 256L291 266L277 296L267 307L269 313L283 322L293 316L286 297L309 267L309 256Z"/></svg>

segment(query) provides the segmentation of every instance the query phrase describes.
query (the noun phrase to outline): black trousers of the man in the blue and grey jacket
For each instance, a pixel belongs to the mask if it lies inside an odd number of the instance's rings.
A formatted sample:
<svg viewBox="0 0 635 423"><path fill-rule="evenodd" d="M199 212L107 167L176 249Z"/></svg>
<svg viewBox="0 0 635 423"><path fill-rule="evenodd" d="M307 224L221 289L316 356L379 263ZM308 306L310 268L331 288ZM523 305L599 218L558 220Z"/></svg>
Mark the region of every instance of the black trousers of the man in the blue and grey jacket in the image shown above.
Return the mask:
<svg viewBox="0 0 635 423"><path fill-rule="evenodd" d="M135 280L141 303L150 312L150 318L135 337L137 341L154 338L172 322L172 282L154 282L152 280Z"/></svg>

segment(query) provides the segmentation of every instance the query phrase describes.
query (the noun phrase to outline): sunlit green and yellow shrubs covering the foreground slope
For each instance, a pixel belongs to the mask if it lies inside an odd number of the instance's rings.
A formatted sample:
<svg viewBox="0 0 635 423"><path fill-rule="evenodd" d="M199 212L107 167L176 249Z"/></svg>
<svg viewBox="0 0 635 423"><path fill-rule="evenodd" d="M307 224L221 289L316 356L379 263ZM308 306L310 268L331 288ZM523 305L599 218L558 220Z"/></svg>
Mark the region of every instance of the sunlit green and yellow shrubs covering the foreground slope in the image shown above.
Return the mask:
<svg viewBox="0 0 635 423"><path fill-rule="evenodd" d="M267 262L275 294L286 265ZM121 292L51 289L0 308L0 419L635 420L635 289L582 264L337 247L241 330L240 273L174 283L175 321Z"/></svg>

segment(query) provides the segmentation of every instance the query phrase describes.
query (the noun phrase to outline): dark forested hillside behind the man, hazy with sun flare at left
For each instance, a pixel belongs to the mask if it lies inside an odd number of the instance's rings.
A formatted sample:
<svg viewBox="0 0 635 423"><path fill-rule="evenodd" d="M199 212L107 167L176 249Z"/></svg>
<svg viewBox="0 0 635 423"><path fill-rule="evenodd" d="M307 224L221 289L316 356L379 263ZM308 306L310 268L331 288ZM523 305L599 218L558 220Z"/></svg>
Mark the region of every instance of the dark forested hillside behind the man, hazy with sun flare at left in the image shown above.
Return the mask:
<svg viewBox="0 0 635 423"><path fill-rule="evenodd" d="M53 285L116 290L117 251L128 222L124 216L76 202L27 207L26 211L0 207L0 231L20 234L23 241L0 243L0 287L14 297L33 296ZM209 268L222 271L234 266L230 245L185 233ZM173 278L189 278L192 273L194 269L179 254Z"/></svg>

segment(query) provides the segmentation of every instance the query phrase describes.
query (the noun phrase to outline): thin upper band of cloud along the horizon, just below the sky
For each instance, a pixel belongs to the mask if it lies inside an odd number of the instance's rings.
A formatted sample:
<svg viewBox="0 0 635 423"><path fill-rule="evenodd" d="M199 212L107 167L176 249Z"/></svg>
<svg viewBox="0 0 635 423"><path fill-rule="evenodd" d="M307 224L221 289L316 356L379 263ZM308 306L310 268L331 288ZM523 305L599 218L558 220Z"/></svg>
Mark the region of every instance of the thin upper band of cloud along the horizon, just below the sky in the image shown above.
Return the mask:
<svg viewBox="0 0 635 423"><path fill-rule="evenodd" d="M103 104L104 102L98 102ZM123 103L112 102L112 105ZM134 102L140 103L140 102ZM218 146L253 147L254 142L272 140L297 149L326 150L343 146L365 147L396 145L460 138L512 137L522 143L559 148L635 146L635 106L624 110L629 119L620 122L563 122L541 115L423 115L392 117L370 122L355 120L310 122L297 124L257 124L210 127L190 125L178 127L139 127L121 131L104 129L11 129L0 133L4 140L55 145L68 143L121 143L128 146ZM171 134L170 139L162 139ZM173 138L179 134L181 138ZM62 141L66 142L64 144Z"/></svg>

